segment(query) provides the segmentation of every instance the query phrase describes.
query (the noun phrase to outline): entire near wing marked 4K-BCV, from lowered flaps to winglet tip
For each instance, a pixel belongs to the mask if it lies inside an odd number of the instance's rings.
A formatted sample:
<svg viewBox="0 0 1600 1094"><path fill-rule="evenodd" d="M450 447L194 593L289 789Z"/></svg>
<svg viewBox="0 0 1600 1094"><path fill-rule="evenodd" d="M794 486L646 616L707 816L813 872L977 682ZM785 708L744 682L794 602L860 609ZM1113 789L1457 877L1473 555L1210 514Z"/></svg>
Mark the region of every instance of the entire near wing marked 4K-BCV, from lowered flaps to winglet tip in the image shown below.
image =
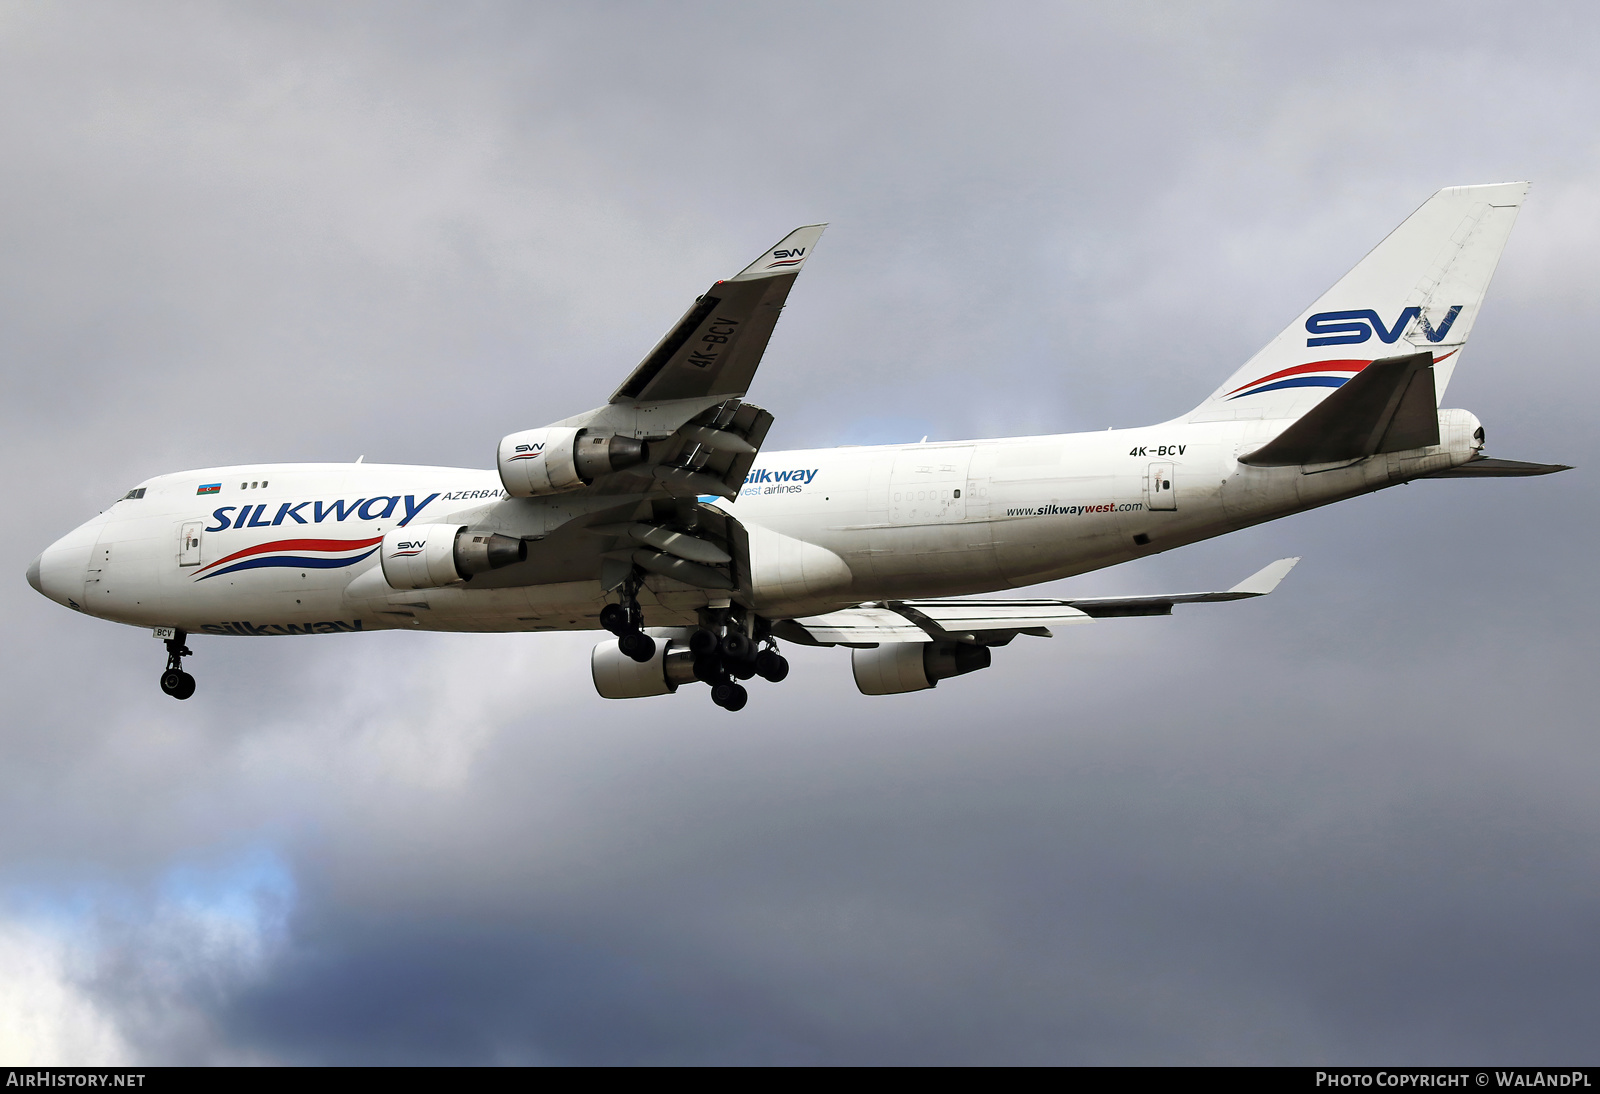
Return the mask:
<svg viewBox="0 0 1600 1094"><path fill-rule="evenodd" d="M766 440L773 416L746 403L744 392L824 227L795 229L744 270L714 283L605 406L501 440L501 480L514 497L600 504L586 504L579 515L525 537L526 557L475 576L474 589L598 577L611 590L638 571L712 592L747 587L747 533L699 499L738 497ZM589 473L579 470L579 443L618 438L642 443L626 462L595 454ZM547 451L550 443L571 448ZM566 462L555 464L550 451L566 451ZM518 470L542 469L544 481L523 473L526 493L512 491L507 467L514 462ZM558 486L552 465L565 467L557 472L566 475Z"/></svg>

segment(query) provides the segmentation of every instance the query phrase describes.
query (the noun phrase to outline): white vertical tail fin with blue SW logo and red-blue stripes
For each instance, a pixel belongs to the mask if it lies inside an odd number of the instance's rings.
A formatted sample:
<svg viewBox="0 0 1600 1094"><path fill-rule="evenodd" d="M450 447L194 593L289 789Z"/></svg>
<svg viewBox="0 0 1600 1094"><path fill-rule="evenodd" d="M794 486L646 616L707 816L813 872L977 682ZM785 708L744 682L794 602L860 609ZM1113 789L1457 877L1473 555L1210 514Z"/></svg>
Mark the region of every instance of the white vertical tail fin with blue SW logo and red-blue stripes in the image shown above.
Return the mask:
<svg viewBox="0 0 1600 1094"><path fill-rule="evenodd" d="M1422 353L1437 408L1526 192L1496 182L1430 197L1186 421L1298 419L1374 361Z"/></svg>

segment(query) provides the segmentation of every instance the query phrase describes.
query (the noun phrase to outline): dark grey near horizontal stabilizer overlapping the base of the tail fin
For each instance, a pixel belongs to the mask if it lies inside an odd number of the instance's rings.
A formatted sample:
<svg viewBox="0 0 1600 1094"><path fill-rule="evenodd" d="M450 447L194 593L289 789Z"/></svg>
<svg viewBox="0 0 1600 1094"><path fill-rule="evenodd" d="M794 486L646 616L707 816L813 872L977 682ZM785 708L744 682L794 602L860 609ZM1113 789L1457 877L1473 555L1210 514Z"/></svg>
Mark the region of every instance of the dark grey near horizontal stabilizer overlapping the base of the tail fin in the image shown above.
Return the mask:
<svg viewBox="0 0 1600 1094"><path fill-rule="evenodd" d="M1253 467L1365 459L1438 443L1434 353L1373 361L1275 438L1238 457Z"/></svg>

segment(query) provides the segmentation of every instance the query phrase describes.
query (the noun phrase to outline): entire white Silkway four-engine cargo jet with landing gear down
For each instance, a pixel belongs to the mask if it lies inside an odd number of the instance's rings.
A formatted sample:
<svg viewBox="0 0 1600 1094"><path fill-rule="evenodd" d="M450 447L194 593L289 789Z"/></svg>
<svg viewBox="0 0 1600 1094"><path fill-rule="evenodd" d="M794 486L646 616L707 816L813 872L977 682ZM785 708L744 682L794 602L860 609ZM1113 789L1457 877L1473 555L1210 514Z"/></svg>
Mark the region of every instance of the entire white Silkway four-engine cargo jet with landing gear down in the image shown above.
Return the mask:
<svg viewBox="0 0 1600 1094"><path fill-rule="evenodd" d="M1418 478L1544 475L1440 409L1528 186L1440 190L1182 417L1053 437L765 453L744 401L822 235L712 285L600 408L499 443L496 470L256 464L150 478L27 579L166 643L382 629L592 630L608 699L702 681L739 710L779 641L848 646L893 694L1018 635L1272 592L973 597L1170 550Z"/></svg>

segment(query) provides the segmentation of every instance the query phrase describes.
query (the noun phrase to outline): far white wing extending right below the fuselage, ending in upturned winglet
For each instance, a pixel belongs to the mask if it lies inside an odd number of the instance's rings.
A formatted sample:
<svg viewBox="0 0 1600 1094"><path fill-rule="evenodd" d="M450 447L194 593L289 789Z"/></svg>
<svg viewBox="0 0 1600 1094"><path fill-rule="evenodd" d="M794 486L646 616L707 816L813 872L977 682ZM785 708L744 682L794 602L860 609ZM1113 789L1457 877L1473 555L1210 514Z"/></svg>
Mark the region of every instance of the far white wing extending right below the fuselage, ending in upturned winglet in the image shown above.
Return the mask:
<svg viewBox="0 0 1600 1094"><path fill-rule="evenodd" d="M1050 637L1050 627L1122 616L1170 616L1173 605L1208 605L1266 597L1299 558L1280 558L1224 592L1157 597L1090 597L1083 600L886 600L790 619L774 629L806 645L866 646L898 641L973 641L1000 646L1016 635Z"/></svg>

